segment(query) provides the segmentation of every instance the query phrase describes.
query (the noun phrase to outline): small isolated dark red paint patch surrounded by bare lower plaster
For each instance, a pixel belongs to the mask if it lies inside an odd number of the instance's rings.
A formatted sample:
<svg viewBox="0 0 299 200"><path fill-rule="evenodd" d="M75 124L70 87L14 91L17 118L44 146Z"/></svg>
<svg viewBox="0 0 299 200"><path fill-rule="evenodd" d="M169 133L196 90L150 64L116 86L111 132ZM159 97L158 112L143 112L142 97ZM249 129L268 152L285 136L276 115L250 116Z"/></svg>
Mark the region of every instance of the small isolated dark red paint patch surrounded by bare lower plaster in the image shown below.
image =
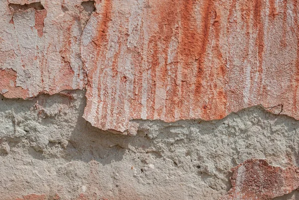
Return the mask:
<svg viewBox="0 0 299 200"><path fill-rule="evenodd" d="M251 159L232 169L232 188L219 200L273 200L299 187L299 168L274 167Z"/></svg>

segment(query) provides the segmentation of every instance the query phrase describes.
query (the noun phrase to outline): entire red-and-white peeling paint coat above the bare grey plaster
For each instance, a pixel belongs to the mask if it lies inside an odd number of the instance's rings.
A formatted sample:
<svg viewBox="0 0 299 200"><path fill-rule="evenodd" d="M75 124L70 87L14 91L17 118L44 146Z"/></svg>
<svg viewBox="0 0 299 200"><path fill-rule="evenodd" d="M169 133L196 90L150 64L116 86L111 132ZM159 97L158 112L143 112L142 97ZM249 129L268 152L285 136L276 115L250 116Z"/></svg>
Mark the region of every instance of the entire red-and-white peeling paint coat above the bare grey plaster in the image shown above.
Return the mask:
<svg viewBox="0 0 299 200"><path fill-rule="evenodd" d="M3 15L0 69L26 91L11 98L86 88L84 118L119 132L256 105L299 119L297 0L101 0L86 24L80 3Z"/></svg>

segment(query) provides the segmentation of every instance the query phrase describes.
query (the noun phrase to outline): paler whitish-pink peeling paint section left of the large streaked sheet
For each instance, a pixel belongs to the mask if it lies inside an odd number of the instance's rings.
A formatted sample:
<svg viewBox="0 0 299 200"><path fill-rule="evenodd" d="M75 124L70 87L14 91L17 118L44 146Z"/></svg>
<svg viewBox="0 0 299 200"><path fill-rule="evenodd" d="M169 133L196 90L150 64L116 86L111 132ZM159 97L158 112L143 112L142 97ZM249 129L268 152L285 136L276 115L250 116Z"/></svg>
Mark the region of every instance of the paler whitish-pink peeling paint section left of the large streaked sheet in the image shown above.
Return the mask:
<svg viewBox="0 0 299 200"><path fill-rule="evenodd" d="M13 52L0 56L0 69L15 71L15 87L27 91L10 89L9 97L26 99L85 87L80 58L83 26L76 9L80 3L68 2L66 10L61 2L47 0L0 1L0 54Z"/></svg>

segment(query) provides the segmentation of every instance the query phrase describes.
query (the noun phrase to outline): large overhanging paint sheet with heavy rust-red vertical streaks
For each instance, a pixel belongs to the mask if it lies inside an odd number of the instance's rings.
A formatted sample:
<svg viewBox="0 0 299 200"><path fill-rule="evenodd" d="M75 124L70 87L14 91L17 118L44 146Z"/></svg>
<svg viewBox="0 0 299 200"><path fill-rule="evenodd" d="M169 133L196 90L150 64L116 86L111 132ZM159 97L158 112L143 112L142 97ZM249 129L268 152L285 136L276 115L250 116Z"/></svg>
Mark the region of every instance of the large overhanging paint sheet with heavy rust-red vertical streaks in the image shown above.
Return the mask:
<svg viewBox="0 0 299 200"><path fill-rule="evenodd" d="M82 35L84 118L125 131L262 105L299 119L298 13L296 0L102 0Z"/></svg>

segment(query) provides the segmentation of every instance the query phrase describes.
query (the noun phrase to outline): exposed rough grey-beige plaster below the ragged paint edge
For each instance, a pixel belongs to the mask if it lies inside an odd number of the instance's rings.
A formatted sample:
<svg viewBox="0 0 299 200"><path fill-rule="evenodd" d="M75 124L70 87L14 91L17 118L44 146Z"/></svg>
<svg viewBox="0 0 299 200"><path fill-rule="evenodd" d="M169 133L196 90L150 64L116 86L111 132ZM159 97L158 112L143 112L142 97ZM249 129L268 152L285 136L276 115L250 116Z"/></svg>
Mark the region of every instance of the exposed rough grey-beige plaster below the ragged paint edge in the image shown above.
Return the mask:
<svg viewBox="0 0 299 200"><path fill-rule="evenodd" d="M218 200L246 160L281 175L299 166L299 121L288 116L252 107L215 121L140 120L123 136L81 117L84 95L0 99L0 200Z"/></svg>

